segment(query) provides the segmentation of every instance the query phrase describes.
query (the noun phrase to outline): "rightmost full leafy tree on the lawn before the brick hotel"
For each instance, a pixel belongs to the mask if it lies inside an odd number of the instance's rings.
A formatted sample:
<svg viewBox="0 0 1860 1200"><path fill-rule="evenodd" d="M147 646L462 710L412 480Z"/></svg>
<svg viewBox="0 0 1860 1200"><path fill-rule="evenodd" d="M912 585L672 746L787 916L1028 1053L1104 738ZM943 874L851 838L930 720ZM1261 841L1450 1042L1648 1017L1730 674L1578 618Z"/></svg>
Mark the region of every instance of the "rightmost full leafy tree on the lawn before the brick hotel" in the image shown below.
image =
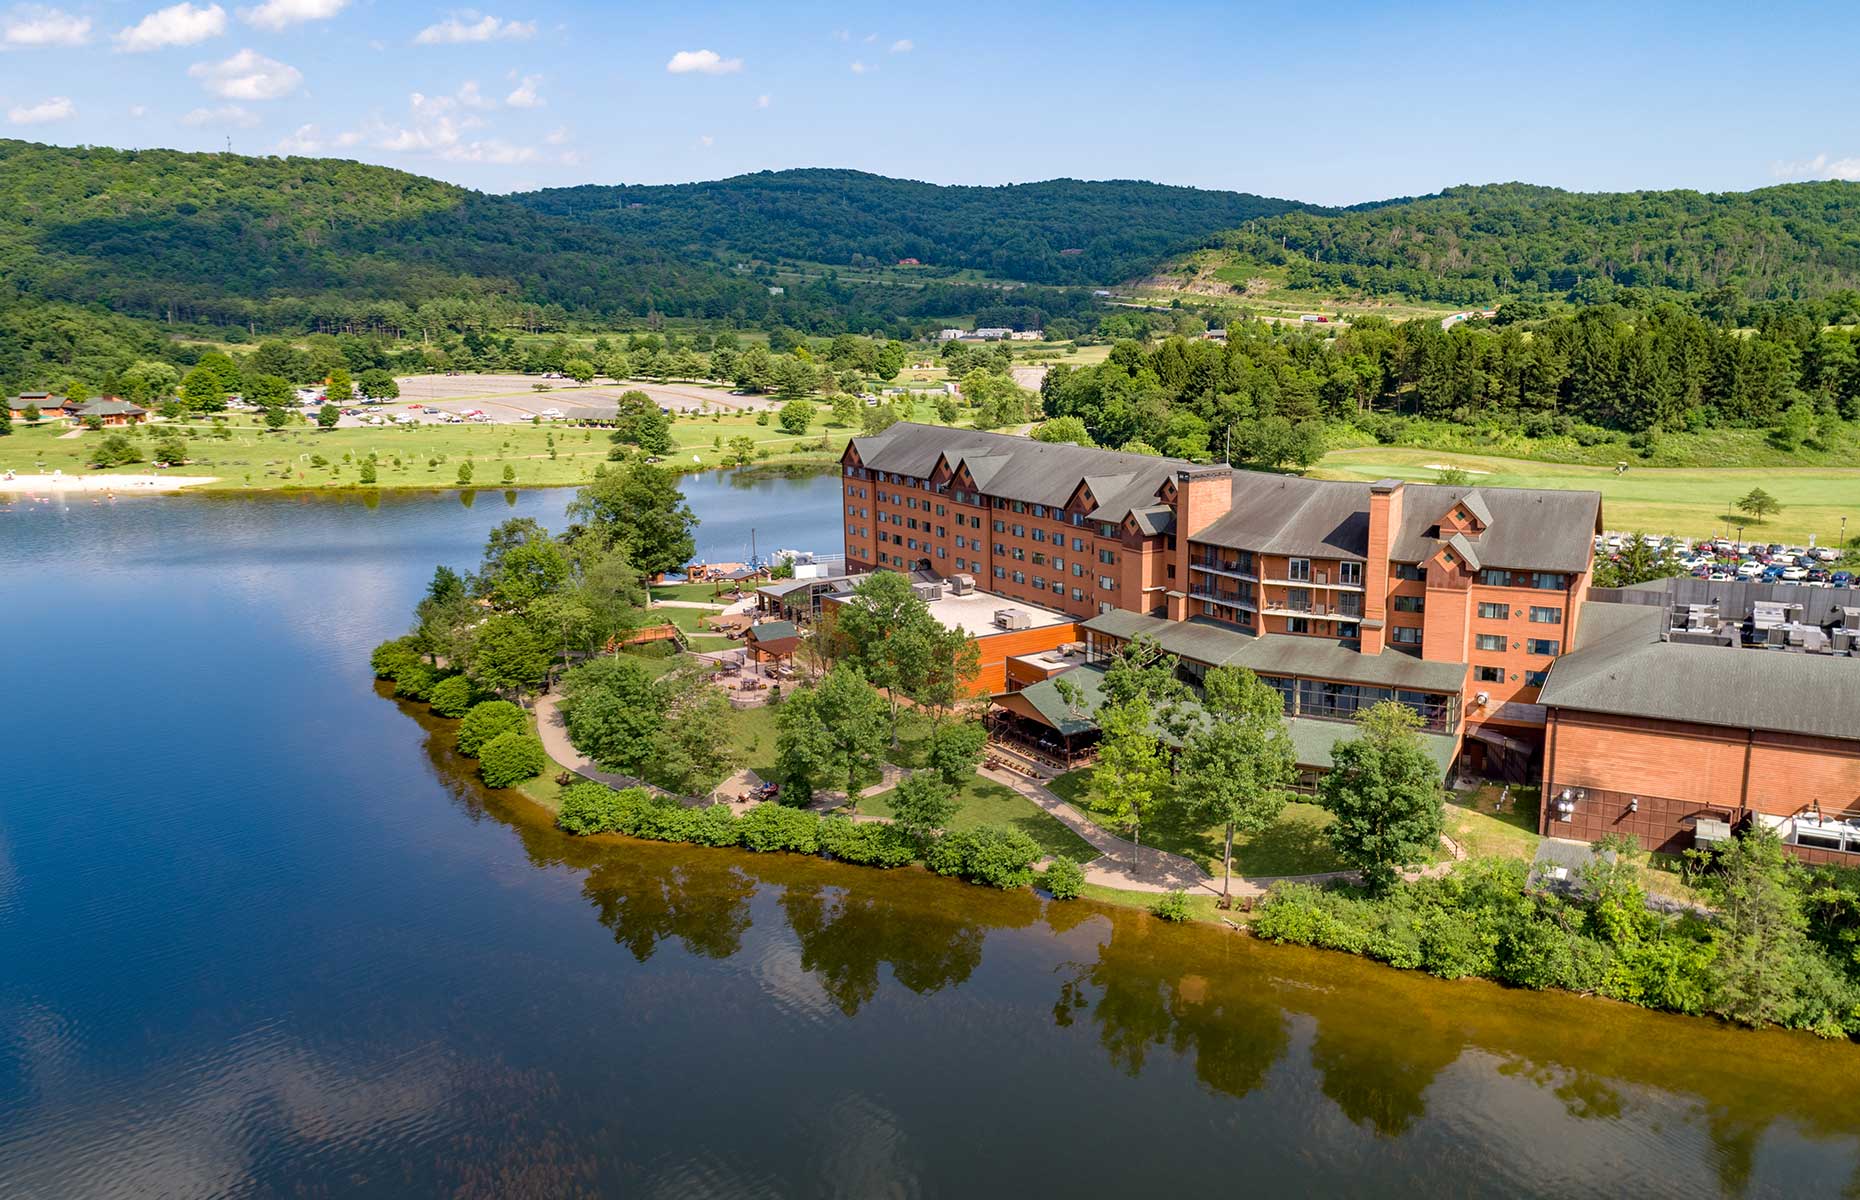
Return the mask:
<svg viewBox="0 0 1860 1200"><path fill-rule="evenodd" d="M1427 861L1445 828L1440 768L1421 742L1421 716L1384 700L1358 714L1362 733L1337 740L1330 772L1317 794L1335 820L1330 845L1363 874L1373 891L1388 891L1402 867Z"/></svg>

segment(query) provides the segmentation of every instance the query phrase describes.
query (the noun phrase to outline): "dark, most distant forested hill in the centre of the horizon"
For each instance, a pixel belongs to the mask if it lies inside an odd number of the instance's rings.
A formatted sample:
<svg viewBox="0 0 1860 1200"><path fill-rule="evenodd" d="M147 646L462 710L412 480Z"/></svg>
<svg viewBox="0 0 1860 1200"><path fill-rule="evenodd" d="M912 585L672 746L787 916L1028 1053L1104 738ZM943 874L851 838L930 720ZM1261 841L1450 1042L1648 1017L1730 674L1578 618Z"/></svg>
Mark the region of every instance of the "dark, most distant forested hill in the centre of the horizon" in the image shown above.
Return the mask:
<svg viewBox="0 0 1860 1200"><path fill-rule="evenodd" d="M863 171L761 171L714 182L549 188L513 197L681 259L975 268L1027 283L1142 275L1220 229L1304 208L1244 192L1055 179L963 188ZM1330 212L1319 208L1317 212Z"/></svg>

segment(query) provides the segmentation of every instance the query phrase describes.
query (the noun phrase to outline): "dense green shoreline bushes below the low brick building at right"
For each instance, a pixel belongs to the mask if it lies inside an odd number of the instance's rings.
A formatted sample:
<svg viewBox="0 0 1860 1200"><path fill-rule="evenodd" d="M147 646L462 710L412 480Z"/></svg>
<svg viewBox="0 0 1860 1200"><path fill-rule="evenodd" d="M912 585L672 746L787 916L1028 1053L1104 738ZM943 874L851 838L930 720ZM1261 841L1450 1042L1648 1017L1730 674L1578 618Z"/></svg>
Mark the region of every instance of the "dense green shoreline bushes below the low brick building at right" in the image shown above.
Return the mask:
<svg viewBox="0 0 1860 1200"><path fill-rule="evenodd" d="M1499 858L1382 891L1280 884L1252 928L1442 979L1860 1034L1860 873L1804 867L1756 830L1689 850L1704 904L1665 913L1648 906L1633 850L1603 848L1613 861L1596 856L1566 889L1533 886L1529 863Z"/></svg>

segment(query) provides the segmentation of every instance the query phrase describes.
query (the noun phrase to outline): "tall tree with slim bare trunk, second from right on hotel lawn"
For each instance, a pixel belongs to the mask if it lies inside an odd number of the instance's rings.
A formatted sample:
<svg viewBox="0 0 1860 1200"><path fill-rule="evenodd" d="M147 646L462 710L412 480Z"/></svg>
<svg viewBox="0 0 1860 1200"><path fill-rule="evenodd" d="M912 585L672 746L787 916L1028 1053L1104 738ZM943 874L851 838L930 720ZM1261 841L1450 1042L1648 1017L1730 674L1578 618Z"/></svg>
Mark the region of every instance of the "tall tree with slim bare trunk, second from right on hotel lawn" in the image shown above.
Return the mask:
<svg viewBox="0 0 1860 1200"><path fill-rule="evenodd" d="M1226 830L1222 906L1233 891L1233 835L1261 833L1285 811L1298 759L1285 729L1285 701L1246 668L1216 666L1203 679L1207 720L1183 746L1183 804L1198 826Z"/></svg>

